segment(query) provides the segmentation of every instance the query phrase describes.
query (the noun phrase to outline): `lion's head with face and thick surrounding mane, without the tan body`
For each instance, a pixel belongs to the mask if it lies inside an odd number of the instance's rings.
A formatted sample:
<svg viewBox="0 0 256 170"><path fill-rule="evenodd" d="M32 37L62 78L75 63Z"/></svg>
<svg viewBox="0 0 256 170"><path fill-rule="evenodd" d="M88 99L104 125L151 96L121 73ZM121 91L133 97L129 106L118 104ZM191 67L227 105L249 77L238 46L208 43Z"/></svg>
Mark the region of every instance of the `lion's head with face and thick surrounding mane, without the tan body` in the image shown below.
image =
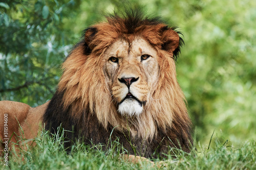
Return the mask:
<svg viewBox="0 0 256 170"><path fill-rule="evenodd" d="M183 42L179 32L136 11L106 19L86 30L63 63L45 122L91 131L88 120L95 116L105 129L129 130L145 140L170 129L190 139L176 78L175 60Z"/></svg>

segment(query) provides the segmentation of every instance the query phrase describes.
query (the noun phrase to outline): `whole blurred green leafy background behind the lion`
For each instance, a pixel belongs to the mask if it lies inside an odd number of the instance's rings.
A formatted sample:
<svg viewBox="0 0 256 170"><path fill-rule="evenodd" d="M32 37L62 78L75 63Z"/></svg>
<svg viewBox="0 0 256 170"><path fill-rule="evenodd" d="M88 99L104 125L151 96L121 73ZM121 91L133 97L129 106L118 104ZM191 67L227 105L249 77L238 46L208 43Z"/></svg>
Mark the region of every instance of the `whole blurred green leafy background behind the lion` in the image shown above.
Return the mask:
<svg viewBox="0 0 256 170"><path fill-rule="evenodd" d="M178 26L185 41L177 61L197 143L215 130L220 142L256 139L256 1L142 0L148 14ZM50 100L60 65L82 30L127 1L0 3L0 100L33 107Z"/></svg>

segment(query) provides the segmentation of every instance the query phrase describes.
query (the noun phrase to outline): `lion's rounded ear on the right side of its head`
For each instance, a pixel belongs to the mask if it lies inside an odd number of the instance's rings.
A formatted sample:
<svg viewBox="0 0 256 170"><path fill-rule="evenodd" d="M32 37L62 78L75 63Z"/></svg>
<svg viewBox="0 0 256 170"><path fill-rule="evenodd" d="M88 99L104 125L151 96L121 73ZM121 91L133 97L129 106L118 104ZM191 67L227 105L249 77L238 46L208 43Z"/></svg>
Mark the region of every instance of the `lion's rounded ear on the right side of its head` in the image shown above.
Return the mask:
<svg viewBox="0 0 256 170"><path fill-rule="evenodd" d="M172 53L174 58L177 59L180 47L183 44L183 40L179 37L179 34L173 29L165 29L162 32L162 49Z"/></svg>

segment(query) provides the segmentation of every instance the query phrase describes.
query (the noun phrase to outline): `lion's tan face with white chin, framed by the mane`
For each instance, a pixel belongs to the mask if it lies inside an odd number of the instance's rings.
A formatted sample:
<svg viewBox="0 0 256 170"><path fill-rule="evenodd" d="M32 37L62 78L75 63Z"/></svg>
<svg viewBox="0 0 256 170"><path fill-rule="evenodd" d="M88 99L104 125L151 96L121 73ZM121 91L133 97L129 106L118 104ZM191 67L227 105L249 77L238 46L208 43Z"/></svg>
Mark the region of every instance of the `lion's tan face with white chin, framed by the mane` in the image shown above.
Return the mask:
<svg viewBox="0 0 256 170"><path fill-rule="evenodd" d="M104 76L118 112L138 116L143 112L159 77L157 51L142 37L132 42L118 39L104 53Z"/></svg>

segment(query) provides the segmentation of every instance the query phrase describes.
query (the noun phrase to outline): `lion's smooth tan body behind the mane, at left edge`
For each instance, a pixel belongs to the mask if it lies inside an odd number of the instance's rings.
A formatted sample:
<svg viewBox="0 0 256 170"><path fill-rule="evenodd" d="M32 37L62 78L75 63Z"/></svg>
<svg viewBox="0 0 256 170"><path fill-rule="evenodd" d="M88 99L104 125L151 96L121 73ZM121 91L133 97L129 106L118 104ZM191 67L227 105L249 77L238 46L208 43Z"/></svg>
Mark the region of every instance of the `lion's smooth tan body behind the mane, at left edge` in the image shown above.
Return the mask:
<svg viewBox="0 0 256 170"><path fill-rule="evenodd" d="M49 102L32 108L24 103L1 101L0 140L5 143L7 140L10 140L8 141L8 147L17 143L17 148L23 148L22 142L24 142L24 140L22 139L35 138L38 131L41 130L42 115L44 115L48 104ZM5 126L5 124L7 126ZM6 131L4 131L4 129ZM2 155L2 152L5 149L5 143L0 144L0 155Z"/></svg>

